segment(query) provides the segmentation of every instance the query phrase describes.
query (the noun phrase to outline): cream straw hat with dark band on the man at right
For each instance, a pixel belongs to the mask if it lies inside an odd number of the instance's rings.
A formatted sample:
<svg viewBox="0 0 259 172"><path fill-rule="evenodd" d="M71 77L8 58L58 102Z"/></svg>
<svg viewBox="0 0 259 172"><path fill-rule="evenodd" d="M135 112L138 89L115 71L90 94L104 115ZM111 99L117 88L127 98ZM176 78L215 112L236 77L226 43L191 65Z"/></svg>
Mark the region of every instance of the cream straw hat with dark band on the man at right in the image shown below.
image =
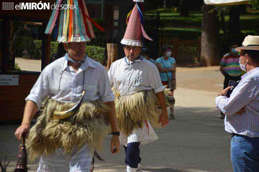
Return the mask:
<svg viewBox="0 0 259 172"><path fill-rule="evenodd" d="M235 50L238 52L241 50L259 50L259 36L248 35L245 37L242 47L237 47Z"/></svg>

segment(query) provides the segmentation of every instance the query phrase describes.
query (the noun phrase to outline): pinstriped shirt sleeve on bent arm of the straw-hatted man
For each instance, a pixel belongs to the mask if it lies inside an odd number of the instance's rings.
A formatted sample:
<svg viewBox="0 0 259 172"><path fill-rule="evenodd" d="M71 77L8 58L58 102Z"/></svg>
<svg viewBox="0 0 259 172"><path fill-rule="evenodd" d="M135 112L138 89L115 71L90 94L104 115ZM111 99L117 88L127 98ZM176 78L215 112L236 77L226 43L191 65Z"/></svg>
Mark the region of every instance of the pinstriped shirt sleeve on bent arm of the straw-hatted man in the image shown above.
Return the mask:
<svg viewBox="0 0 259 172"><path fill-rule="evenodd" d="M256 98L258 95L258 85L253 78L249 78L242 83L239 92L230 98L218 96L215 99L216 107L225 115L230 115L238 112L246 104Z"/></svg>

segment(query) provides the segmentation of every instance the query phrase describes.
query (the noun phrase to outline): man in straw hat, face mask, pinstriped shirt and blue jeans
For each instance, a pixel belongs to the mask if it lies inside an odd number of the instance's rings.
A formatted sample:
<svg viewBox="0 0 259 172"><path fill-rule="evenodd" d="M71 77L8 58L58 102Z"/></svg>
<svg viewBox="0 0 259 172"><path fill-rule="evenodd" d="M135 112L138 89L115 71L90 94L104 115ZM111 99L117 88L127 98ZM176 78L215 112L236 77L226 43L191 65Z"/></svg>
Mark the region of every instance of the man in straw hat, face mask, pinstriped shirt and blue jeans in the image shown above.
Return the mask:
<svg viewBox="0 0 259 172"><path fill-rule="evenodd" d="M259 36L248 35L235 50L241 55L240 68L247 73L234 88L228 87L216 97L216 107L226 115L225 130L232 134L234 171L259 171Z"/></svg>

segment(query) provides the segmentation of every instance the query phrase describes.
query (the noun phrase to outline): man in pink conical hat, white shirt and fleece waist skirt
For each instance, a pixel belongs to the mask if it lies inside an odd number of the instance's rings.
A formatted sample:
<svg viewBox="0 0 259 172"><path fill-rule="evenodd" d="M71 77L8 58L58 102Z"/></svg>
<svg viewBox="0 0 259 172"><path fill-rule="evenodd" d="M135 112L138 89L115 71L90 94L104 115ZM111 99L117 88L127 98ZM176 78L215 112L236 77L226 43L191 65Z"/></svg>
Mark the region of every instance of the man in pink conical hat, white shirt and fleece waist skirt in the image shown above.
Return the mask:
<svg viewBox="0 0 259 172"><path fill-rule="evenodd" d="M142 4L136 2L121 43L125 57L115 61L108 72L115 95L120 142L124 146L128 172L142 171L139 146L158 139L155 128L168 122L165 87L156 66L140 55L143 36ZM162 113L159 113L158 106ZM160 125L161 123L161 125Z"/></svg>

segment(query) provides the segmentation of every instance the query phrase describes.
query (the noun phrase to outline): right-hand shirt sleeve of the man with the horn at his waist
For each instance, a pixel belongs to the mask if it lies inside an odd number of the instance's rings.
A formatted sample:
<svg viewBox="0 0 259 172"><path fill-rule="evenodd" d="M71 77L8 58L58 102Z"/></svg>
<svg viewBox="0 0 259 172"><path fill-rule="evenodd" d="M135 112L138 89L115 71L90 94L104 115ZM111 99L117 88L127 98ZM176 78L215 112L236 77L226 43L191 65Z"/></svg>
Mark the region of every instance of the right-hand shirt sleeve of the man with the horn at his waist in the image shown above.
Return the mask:
<svg viewBox="0 0 259 172"><path fill-rule="evenodd" d="M102 68L102 71L100 72L97 88L101 102L105 103L114 101L115 97L113 95L110 79L105 68Z"/></svg>

